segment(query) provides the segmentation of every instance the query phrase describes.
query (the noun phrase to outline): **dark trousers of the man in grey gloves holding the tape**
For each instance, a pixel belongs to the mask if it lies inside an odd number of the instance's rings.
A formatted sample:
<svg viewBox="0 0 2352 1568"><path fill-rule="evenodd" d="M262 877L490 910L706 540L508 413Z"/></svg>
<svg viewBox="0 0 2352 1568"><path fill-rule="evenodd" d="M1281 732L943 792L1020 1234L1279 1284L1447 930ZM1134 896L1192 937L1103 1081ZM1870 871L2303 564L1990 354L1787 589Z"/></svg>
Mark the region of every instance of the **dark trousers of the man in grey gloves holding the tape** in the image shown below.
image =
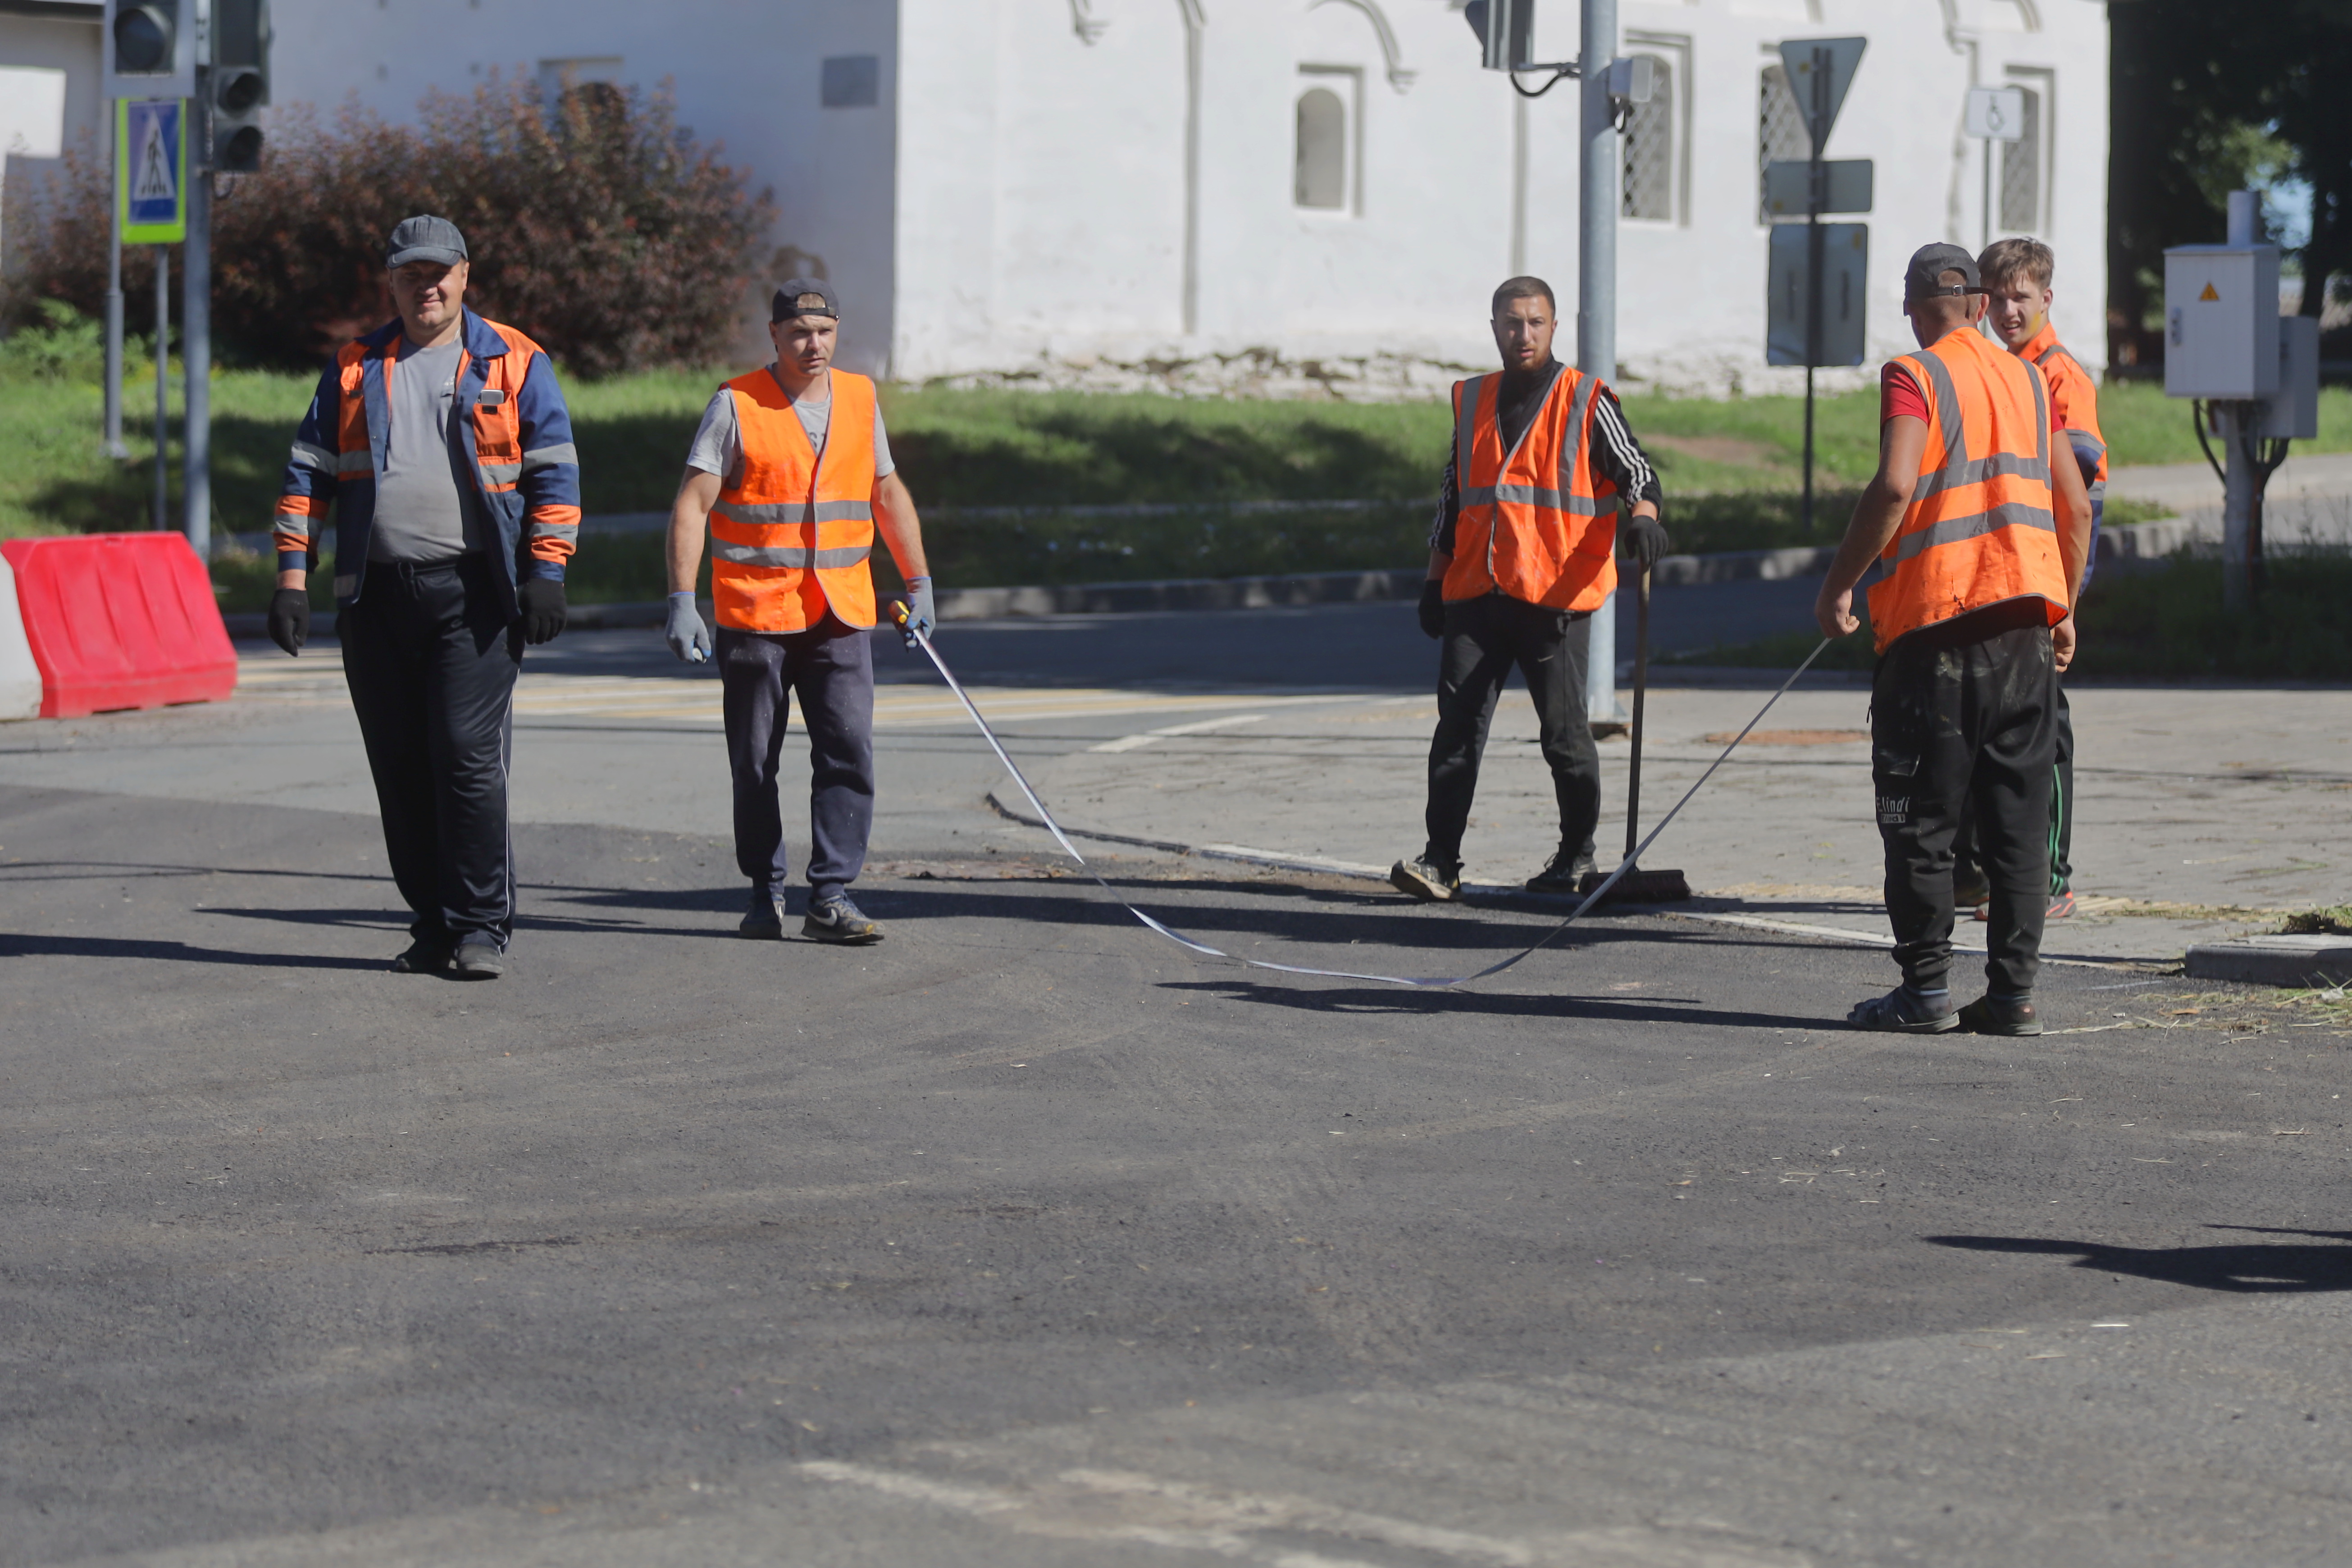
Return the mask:
<svg viewBox="0 0 2352 1568"><path fill-rule="evenodd" d="M840 893L866 870L875 825L875 654L830 614L804 632L717 630L734 771L736 867L774 898L790 870L776 771L793 696L809 729L809 898Z"/></svg>

